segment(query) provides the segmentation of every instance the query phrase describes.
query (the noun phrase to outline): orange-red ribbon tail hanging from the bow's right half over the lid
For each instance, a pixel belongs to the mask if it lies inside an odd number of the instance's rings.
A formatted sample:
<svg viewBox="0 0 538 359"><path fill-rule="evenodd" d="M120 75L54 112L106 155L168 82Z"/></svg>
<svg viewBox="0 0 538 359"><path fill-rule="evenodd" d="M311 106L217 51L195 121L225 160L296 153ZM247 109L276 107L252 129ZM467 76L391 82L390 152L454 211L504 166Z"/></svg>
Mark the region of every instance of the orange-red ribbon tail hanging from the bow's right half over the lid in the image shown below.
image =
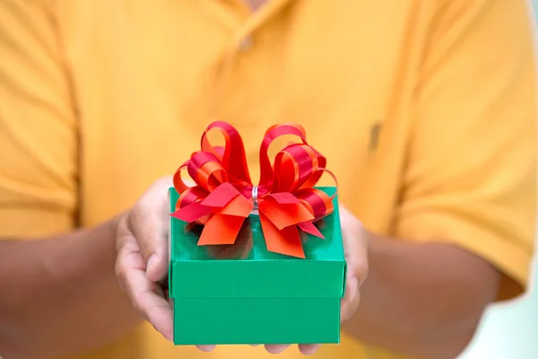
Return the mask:
<svg viewBox="0 0 538 359"><path fill-rule="evenodd" d="M286 256L305 258L297 226L291 225L279 231L263 213L260 213L260 223L262 223L267 250Z"/></svg>

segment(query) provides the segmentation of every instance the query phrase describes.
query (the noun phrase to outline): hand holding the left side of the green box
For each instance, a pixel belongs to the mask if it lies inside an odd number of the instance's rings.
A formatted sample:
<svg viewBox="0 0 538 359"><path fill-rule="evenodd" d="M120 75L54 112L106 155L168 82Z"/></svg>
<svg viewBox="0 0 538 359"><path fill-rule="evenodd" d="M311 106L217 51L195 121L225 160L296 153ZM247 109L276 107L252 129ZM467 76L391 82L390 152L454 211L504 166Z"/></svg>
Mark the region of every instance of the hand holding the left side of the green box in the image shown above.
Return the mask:
<svg viewBox="0 0 538 359"><path fill-rule="evenodd" d="M161 282L168 273L169 203L172 178L152 184L117 227L116 275L144 320L172 340L173 316ZM197 346L204 351L214 346Z"/></svg>

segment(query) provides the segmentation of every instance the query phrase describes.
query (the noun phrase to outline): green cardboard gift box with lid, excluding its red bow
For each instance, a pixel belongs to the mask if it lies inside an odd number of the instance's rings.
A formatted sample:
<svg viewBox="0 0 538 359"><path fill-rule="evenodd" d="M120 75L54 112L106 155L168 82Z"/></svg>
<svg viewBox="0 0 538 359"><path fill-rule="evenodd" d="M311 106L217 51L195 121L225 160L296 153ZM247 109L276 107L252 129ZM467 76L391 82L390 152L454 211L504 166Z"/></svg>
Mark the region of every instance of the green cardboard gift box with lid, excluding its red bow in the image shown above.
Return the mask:
<svg viewBox="0 0 538 359"><path fill-rule="evenodd" d="M170 188L170 213L177 200ZM268 251L258 215L247 217L235 244L218 246L199 246L200 228L170 216L174 344L339 343L346 264L333 203L317 223L325 239L303 233L306 258Z"/></svg>

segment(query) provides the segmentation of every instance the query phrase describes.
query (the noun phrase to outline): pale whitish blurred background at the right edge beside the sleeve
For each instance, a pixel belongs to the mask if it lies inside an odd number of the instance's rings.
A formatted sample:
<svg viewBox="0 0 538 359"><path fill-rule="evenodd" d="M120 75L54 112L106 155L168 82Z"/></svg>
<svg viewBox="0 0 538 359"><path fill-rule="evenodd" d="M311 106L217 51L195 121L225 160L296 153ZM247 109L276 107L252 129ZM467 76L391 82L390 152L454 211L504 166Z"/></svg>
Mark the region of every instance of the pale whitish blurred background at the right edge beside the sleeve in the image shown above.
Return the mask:
<svg viewBox="0 0 538 359"><path fill-rule="evenodd" d="M532 0L538 21L538 0ZM538 229L537 229L538 231ZM538 250L538 239L536 240ZM472 344L459 359L538 358L538 258L534 255L533 285L525 297L492 306Z"/></svg>

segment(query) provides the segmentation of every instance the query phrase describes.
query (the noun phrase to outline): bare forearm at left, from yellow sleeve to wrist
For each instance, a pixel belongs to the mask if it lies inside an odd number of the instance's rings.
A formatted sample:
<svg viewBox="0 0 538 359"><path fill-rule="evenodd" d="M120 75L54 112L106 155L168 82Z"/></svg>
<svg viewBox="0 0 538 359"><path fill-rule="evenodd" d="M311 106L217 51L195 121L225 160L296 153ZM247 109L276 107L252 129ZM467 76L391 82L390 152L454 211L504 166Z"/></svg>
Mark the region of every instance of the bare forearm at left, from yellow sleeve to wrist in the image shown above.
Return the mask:
<svg viewBox="0 0 538 359"><path fill-rule="evenodd" d="M141 321L114 276L119 217L50 238L0 239L0 355L58 358Z"/></svg>

